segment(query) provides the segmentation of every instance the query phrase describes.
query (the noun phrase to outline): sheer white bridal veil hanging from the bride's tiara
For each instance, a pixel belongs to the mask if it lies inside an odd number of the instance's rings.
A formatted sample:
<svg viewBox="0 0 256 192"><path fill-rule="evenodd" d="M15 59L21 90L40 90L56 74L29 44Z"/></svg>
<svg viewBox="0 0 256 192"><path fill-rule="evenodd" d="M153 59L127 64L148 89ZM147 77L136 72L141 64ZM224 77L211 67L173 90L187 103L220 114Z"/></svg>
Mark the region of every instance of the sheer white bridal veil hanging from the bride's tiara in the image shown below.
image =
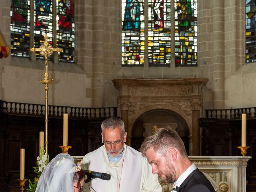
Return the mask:
<svg viewBox="0 0 256 192"><path fill-rule="evenodd" d="M74 159L69 154L58 154L44 168L36 192L73 192Z"/></svg>

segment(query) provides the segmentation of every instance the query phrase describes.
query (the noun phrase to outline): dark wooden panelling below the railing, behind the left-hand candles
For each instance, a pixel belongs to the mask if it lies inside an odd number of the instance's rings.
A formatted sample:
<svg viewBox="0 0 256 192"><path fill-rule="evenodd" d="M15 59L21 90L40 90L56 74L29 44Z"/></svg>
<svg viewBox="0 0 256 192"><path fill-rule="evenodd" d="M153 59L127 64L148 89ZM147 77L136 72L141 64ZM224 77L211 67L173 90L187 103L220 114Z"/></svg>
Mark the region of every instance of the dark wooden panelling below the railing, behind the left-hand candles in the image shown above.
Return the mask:
<svg viewBox="0 0 256 192"><path fill-rule="evenodd" d="M100 124L104 119L69 119L68 144L72 146L70 155L84 156L88 153L88 130L91 138L100 138ZM91 126L89 126L89 124ZM44 131L44 118L33 116L14 116L0 112L0 191L20 191L16 179L20 172L20 148L25 148L25 177L33 180L33 166L39 156L39 131ZM94 130L95 129L95 130ZM59 148L63 140L63 119L49 118L48 154L50 160L62 150ZM102 145L100 141L100 145ZM93 146L91 150L98 148ZM28 185L28 182L26 182ZM25 187L26 188L26 187ZM2 190L3 189L3 190ZM7 190L8 189L8 190Z"/></svg>

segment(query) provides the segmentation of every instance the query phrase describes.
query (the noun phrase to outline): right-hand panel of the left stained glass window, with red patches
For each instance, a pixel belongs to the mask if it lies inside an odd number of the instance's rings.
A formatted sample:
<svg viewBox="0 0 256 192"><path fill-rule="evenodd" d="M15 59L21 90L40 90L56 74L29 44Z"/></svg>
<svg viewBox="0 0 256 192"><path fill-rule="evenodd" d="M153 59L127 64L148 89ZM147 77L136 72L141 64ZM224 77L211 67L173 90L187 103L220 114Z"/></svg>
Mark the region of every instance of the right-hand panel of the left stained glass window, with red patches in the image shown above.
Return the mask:
<svg viewBox="0 0 256 192"><path fill-rule="evenodd" d="M57 46L62 48L60 61L74 62L74 0L58 0Z"/></svg>

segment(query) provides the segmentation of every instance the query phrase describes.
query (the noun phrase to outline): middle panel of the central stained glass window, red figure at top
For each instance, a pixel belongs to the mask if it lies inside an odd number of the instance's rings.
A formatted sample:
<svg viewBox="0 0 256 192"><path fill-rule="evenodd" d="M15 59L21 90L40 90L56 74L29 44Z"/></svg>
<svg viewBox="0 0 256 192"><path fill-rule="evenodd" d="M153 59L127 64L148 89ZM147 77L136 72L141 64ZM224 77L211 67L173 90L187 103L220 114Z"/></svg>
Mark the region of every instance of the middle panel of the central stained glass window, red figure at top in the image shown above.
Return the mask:
<svg viewBox="0 0 256 192"><path fill-rule="evenodd" d="M170 0L148 0L148 63L150 65L170 65L170 6Z"/></svg>

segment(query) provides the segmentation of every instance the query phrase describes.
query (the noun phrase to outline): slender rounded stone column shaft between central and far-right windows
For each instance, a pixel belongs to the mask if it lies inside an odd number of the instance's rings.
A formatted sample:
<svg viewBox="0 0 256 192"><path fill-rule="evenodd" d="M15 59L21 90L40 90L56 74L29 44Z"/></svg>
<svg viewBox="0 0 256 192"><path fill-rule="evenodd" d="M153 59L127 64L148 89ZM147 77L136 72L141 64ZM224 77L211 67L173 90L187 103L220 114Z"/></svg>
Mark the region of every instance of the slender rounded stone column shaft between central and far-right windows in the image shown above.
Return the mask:
<svg viewBox="0 0 256 192"><path fill-rule="evenodd" d="M214 109L224 108L224 2L212 0L212 47L213 47L213 106Z"/></svg>

